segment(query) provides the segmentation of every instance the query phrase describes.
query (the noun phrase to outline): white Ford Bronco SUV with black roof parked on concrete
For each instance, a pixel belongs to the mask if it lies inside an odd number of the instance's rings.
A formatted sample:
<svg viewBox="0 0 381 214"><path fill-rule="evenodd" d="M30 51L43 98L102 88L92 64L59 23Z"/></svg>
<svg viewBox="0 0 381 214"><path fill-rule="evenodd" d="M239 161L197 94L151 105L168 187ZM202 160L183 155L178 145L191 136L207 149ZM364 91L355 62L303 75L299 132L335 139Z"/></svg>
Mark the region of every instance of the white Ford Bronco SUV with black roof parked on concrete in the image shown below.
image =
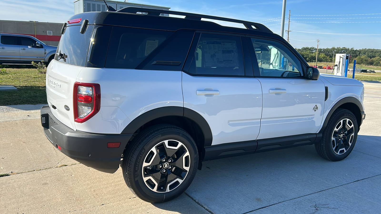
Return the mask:
<svg viewBox="0 0 381 214"><path fill-rule="evenodd" d="M46 73L46 137L99 171L121 165L149 202L180 195L205 160L311 144L343 160L365 118L362 83L319 77L262 24L123 8L76 14L62 34Z"/></svg>

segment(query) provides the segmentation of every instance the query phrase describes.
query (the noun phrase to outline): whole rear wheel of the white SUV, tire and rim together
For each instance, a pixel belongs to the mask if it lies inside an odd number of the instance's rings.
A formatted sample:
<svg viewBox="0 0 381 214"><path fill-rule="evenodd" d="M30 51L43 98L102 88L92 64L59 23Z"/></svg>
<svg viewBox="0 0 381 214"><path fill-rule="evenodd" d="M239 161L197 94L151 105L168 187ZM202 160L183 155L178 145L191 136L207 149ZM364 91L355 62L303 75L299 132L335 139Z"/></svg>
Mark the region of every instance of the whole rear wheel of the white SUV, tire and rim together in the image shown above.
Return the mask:
<svg viewBox="0 0 381 214"><path fill-rule="evenodd" d="M194 140L183 129L152 126L134 137L127 147L122 161L123 177L142 200L170 201L192 183L199 157Z"/></svg>

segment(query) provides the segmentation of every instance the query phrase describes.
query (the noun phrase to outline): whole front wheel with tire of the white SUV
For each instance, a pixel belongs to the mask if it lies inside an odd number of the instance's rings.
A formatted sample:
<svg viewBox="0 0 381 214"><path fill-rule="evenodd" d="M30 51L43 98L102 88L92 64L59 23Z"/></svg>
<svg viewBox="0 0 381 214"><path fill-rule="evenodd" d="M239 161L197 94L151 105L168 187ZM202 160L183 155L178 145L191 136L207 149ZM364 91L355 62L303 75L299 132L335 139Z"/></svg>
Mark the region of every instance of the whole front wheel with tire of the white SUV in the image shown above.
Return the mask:
<svg viewBox="0 0 381 214"><path fill-rule="evenodd" d="M333 112L322 139L315 143L316 152L330 161L340 161L353 150L359 127L355 115L346 109Z"/></svg>

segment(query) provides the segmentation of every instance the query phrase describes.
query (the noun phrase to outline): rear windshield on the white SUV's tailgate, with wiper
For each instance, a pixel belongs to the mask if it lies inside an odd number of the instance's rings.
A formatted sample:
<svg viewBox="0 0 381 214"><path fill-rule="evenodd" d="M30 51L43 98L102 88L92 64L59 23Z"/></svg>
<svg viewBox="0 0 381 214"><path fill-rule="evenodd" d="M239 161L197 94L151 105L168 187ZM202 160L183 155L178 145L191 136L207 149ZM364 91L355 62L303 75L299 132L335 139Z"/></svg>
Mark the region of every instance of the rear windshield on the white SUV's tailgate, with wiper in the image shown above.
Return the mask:
<svg viewBox="0 0 381 214"><path fill-rule="evenodd" d="M80 27L79 25L66 27L59 40L55 60L71 65L85 66L94 26L88 25L84 34L80 33Z"/></svg>

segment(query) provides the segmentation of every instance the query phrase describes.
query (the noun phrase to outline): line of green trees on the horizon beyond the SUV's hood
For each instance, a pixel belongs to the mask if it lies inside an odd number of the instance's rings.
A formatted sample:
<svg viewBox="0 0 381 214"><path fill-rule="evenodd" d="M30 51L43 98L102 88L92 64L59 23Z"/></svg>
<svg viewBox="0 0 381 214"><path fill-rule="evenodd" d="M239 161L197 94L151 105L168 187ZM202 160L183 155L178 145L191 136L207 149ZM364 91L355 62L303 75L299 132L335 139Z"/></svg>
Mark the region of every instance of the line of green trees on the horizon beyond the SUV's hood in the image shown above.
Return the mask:
<svg viewBox="0 0 381 214"><path fill-rule="evenodd" d="M303 47L296 48L296 51L307 61L316 61L316 48ZM333 52L336 54L343 53L349 54L349 61L353 63L356 60L356 64L381 66L381 50L380 49L354 49L354 48L319 48L317 52L318 62L332 62Z"/></svg>

